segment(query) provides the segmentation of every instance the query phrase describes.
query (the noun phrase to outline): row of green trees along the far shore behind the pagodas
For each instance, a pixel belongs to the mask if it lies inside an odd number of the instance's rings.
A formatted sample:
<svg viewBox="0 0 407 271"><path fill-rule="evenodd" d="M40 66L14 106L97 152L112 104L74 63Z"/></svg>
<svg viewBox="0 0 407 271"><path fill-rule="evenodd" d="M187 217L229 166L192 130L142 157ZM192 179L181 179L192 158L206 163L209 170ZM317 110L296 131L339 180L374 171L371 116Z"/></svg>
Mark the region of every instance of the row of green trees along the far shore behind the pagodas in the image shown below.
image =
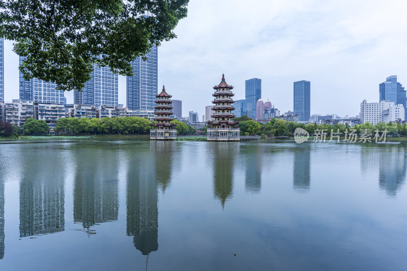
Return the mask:
<svg viewBox="0 0 407 271"><path fill-rule="evenodd" d="M335 133L344 134L351 129L356 130L357 134L367 130L387 130L391 136L407 136L407 124L401 123L378 123L372 125L364 123L350 127L347 124L302 124L297 122L287 122L283 119L271 119L266 124L253 121L247 116L235 118L239 121L241 135L260 135L262 137L292 137L296 128L303 128L311 136L316 130L325 130L329 136L331 130ZM104 118L60 118L57 120L54 131L60 135L148 135L150 133L151 122L147 118L141 117L104 117ZM203 131L196 131L193 127L183 122L174 120L178 135L206 134L207 128ZM17 125L11 125L0 121L0 137L18 138L25 136L43 136L49 132L49 127L42 119L29 118L20 128Z"/></svg>

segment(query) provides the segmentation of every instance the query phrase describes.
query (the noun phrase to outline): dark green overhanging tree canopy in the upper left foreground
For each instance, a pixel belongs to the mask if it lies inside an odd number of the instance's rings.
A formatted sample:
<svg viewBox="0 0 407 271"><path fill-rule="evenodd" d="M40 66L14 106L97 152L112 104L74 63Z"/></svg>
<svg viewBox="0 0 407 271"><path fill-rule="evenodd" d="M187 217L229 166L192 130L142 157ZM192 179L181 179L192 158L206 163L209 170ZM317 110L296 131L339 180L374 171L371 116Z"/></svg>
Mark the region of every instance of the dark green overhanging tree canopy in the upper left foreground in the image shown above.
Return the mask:
<svg viewBox="0 0 407 271"><path fill-rule="evenodd" d="M189 0L4 0L0 36L24 57L26 80L55 82L63 91L82 89L93 64L132 75L130 62L152 46L176 38Z"/></svg>

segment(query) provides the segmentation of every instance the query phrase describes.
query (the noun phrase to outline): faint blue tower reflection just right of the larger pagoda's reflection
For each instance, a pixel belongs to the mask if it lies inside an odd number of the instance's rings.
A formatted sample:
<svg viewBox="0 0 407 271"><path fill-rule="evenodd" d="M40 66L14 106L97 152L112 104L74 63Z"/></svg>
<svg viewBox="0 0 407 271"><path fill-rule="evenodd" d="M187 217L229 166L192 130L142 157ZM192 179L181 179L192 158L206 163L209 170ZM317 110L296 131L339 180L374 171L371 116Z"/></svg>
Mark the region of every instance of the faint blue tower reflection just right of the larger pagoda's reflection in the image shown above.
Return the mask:
<svg viewBox="0 0 407 271"><path fill-rule="evenodd" d="M247 147L245 156L245 190L249 193L260 193L261 190L261 166L263 165L263 153L258 144Z"/></svg>

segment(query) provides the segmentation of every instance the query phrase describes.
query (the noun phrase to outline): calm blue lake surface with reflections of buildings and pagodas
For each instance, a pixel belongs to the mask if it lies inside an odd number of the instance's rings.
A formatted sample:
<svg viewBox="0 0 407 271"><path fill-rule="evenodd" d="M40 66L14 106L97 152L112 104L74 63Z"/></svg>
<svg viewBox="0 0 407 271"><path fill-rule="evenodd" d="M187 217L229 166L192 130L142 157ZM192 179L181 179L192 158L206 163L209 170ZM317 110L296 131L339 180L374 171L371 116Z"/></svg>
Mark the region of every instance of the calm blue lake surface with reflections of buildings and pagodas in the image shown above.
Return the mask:
<svg viewBox="0 0 407 271"><path fill-rule="evenodd" d="M2 143L0 270L405 270L406 147Z"/></svg>

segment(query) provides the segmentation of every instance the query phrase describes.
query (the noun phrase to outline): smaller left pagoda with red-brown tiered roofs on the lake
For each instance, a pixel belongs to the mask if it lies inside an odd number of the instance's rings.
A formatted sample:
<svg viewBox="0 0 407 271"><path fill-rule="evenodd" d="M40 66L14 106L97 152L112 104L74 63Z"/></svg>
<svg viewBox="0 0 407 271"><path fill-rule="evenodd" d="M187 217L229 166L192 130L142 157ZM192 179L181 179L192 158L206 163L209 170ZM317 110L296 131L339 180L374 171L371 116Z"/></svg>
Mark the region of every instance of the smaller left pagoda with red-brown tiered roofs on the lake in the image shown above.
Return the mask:
<svg viewBox="0 0 407 271"><path fill-rule="evenodd" d="M154 121L157 123L151 124L150 139L171 140L177 138L177 124L171 123L174 119L171 115L172 101L169 99L172 96L165 92L165 87L162 86L162 92L156 95L156 106L154 107ZM153 128L154 127L154 128Z"/></svg>

